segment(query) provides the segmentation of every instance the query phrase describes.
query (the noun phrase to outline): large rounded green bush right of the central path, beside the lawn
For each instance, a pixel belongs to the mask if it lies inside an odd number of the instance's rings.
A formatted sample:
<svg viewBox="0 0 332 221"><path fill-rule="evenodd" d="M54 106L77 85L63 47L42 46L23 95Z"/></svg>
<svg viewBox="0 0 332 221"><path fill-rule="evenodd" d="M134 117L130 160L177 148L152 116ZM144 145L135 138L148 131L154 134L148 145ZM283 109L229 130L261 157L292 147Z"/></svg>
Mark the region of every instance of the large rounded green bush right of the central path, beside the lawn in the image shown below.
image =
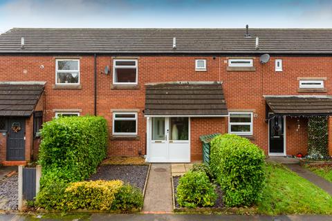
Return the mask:
<svg viewBox="0 0 332 221"><path fill-rule="evenodd" d="M226 206L250 206L261 198L264 167L264 152L244 137L225 134L211 142L210 168Z"/></svg>

